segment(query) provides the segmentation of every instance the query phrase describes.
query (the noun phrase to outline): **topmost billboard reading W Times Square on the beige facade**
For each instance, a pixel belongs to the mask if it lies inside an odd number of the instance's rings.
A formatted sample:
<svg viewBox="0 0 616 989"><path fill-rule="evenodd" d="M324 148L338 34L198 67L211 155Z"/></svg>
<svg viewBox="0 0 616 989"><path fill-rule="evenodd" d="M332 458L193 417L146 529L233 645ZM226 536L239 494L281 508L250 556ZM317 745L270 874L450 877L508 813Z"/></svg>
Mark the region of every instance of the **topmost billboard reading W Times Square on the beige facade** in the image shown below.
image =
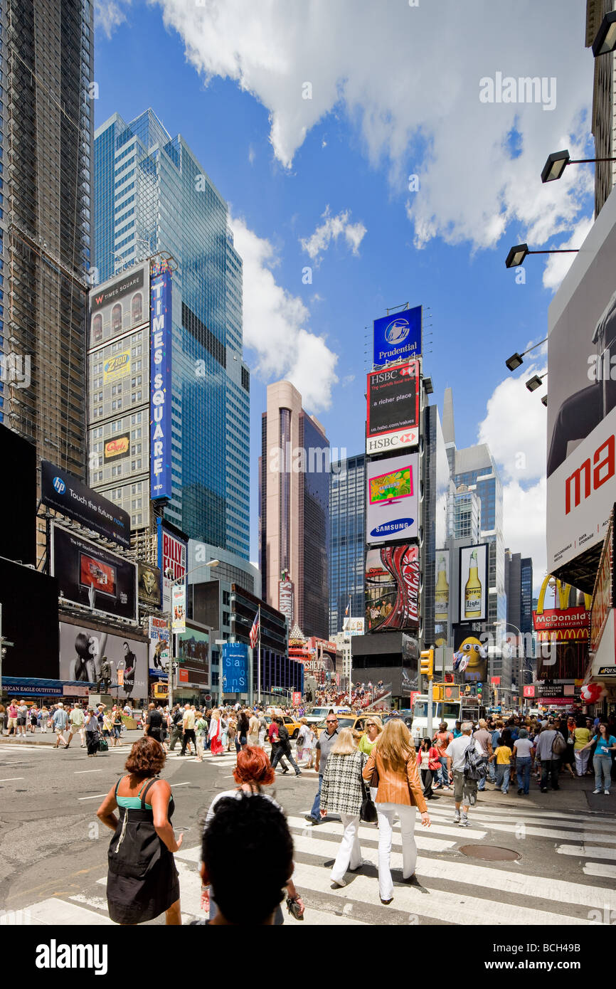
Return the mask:
<svg viewBox="0 0 616 989"><path fill-rule="evenodd" d="M147 322L147 264L97 285L89 295L90 347Z"/></svg>

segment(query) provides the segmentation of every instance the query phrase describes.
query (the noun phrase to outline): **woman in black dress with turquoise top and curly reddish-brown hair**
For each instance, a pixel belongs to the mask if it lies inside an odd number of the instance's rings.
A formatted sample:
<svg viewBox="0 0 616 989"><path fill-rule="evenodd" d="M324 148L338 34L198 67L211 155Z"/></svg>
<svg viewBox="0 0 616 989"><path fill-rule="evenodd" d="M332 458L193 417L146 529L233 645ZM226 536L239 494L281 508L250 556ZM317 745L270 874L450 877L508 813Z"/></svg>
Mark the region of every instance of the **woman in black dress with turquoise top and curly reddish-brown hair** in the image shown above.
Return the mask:
<svg viewBox="0 0 616 989"><path fill-rule="evenodd" d="M181 925L180 880L173 853L179 852L171 818L171 787L158 773L165 754L153 738L134 743L123 776L105 797L97 816L115 832L109 850L107 903L116 924L133 925L165 914ZM120 820L114 814L120 810Z"/></svg>

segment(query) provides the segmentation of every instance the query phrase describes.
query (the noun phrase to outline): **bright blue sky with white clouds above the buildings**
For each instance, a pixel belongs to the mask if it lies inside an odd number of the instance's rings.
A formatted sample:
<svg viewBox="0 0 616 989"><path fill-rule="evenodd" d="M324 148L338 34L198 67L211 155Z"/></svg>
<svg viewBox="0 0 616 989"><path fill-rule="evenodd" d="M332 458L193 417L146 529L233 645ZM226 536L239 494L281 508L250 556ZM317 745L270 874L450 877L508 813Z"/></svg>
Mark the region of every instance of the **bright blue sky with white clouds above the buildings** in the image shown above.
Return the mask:
<svg viewBox="0 0 616 989"><path fill-rule="evenodd" d="M151 107L227 201L251 368L251 559L260 421L286 378L342 456L364 448L372 322L424 307L424 373L453 389L459 448L488 443L504 539L546 568L546 408L504 361L547 335L593 216L579 0L95 0L96 126ZM529 93L518 79L538 77ZM532 97L532 98L531 98Z"/></svg>

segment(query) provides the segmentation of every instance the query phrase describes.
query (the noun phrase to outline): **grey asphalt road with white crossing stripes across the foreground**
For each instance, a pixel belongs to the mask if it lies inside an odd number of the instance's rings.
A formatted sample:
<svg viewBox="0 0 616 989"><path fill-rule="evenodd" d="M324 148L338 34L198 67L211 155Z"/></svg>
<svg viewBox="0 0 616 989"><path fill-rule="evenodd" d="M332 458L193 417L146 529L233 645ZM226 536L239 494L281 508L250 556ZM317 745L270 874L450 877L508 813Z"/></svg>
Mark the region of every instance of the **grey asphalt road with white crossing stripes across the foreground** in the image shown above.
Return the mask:
<svg viewBox="0 0 616 989"><path fill-rule="evenodd" d="M88 759L78 737L67 752L53 751L50 738L44 741L40 736L0 740L0 923L109 924L105 878L111 832L95 811L123 773L129 745ZM176 863L188 921L203 917L197 874L200 822L214 795L234 786L234 756L208 756L200 764L178 758L178 751L168 759L164 776L176 803L174 826L186 829ZM453 823L451 792L433 800L432 827L416 829L421 888L401 882L395 831L395 899L383 906L376 826L362 825L360 832L370 864L348 873L343 889L331 889L340 824L334 820L311 828L304 821L316 790L313 771L301 778L292 772L279 775L272 792L294 834L295 879L307 904L303 926L588 925L598 919L592 911L609 916L616 911L616 791L593 795L589 776L561 777L561 782L560 792L548 794L533 784L526 798L517 795L515 786L507 795L488 786L471 809L466 831ZM498 849L515 857L478 857L499 854ZM297 925L291 918L286 923Z"/></svg>

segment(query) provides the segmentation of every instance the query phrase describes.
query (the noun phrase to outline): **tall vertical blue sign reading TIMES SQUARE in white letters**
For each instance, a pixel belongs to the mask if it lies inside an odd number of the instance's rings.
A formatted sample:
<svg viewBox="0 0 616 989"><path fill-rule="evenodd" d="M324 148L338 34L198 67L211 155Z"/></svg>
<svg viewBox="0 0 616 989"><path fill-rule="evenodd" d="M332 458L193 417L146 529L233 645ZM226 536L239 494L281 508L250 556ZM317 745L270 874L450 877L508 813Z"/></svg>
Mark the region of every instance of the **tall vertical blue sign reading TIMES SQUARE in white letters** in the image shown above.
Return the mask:
<svg viewBox="0 0 616 989"><path fill-rule="evenodd" d="M150 285L149 493L171 497L171 272Z"/></svg>

